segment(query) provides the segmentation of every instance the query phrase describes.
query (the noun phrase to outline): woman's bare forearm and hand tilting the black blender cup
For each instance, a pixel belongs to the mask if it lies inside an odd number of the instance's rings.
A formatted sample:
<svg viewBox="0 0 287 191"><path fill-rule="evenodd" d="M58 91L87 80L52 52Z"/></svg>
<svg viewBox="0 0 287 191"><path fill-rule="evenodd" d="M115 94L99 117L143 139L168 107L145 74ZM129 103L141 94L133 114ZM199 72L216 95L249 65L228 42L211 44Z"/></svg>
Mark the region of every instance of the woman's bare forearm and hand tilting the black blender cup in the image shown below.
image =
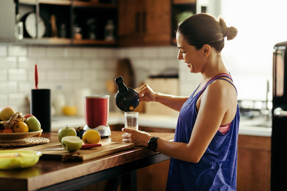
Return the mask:
<svg viewBox="0 0 287 191"><path fill-rule="evenodd" d="M174 109L180 111L182 105L188 99L188 97L174 96L162 94L160 92L154 92L148 84L144 84L139 88L135 88L139 94L139 101L156 101Z"/></svg>

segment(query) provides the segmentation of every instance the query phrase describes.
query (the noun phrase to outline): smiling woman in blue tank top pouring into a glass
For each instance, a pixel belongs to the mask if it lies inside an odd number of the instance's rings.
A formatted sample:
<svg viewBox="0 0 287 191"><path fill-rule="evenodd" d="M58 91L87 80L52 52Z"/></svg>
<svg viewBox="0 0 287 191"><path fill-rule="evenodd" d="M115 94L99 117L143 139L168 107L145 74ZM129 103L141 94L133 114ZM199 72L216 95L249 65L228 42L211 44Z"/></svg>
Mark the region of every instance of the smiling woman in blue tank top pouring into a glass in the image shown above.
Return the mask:
<svg viewBox="0 0 287 191"><path fill-rule="evenodd" d="M202 80L190 97L154 92L147 84L136 91L140 101L157 101L180 111L174 142L123 128L124 142L171 157L166 190L236 190L239 106L237 90L220 52L224 37L232 40L237 29L221 16L207 13L186 19L177 29L178 59Z"/></svg>

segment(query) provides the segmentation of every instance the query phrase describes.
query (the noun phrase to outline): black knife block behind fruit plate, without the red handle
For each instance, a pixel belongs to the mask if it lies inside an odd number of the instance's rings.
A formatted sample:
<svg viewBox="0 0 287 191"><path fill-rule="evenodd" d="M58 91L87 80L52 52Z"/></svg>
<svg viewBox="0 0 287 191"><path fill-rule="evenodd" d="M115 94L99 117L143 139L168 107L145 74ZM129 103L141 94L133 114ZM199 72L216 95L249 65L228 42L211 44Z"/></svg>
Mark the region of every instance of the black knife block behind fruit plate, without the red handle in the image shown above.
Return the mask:
<svg viewBox="0 0 287 191"><path fill-rule="evenodd" d="M31 90L31 115L34 115L41 124L43 132L51 131L51 90Z"/></svg>

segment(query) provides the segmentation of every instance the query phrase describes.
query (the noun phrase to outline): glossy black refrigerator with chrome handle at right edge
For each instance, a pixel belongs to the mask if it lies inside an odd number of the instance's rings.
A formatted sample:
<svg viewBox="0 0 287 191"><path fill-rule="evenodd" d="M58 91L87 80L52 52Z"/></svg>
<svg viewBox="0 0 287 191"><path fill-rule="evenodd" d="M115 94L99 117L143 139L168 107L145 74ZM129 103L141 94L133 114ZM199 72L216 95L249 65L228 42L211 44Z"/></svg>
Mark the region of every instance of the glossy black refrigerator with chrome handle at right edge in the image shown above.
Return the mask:
<svg viewBox="0 0 287 191"><path fill-rule="evenodd" d="M271 190L287 190L287 41L274 46Z"/></svg>

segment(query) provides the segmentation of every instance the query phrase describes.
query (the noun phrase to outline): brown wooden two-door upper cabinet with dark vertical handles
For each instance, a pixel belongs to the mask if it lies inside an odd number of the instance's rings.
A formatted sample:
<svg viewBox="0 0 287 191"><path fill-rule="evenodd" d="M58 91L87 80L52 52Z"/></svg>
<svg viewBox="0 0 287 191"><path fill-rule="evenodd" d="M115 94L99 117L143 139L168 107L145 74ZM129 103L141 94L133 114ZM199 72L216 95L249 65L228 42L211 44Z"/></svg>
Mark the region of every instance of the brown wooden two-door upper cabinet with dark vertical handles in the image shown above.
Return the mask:
<svg viewBox="0 0 287 191"><path fill-rule="evenodd" d="M170 45L171 1L119 1L119 45Z"/></svg>

